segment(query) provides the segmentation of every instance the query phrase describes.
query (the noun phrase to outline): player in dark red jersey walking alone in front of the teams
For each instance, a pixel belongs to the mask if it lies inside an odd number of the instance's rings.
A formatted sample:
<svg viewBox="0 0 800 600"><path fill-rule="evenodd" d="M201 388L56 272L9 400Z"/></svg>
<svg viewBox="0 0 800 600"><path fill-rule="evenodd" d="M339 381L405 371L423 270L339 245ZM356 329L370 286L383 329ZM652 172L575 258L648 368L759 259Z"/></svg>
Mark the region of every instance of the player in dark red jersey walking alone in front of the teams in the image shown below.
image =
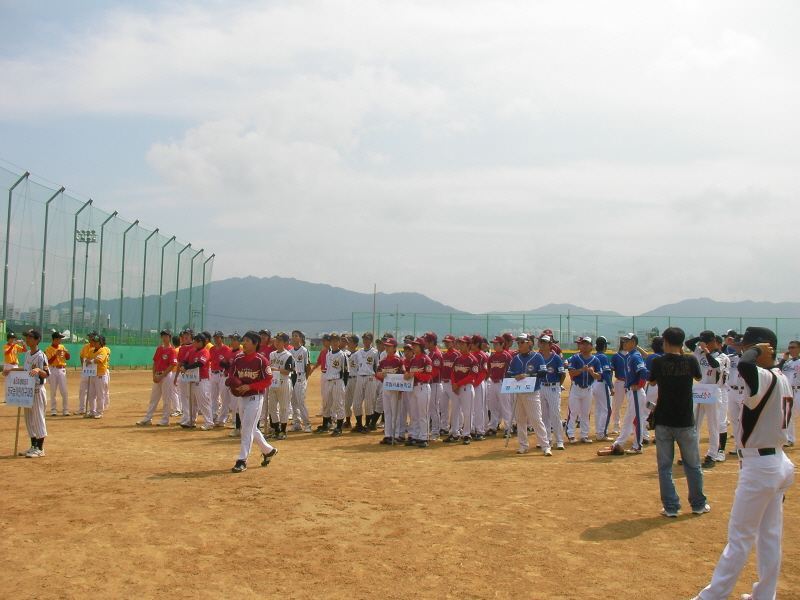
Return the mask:
<svg viewBox="0 0 800 600"><path fill-rule="evenodd" d="M241 473L247 469L247 458L255 440L261 449L261 466L266 467L278 449L271 446L258 429L258 419L261 415L261 405L264 403L264 391L272 383L272 369L263 354L256 352L259 344L259 335L255 331L248 331L242 339L242 352L231 358L231 375L226 380L226 385L239 401L239 414L242 419L242 443L236 464L231 469L234 473Z"/></svg>

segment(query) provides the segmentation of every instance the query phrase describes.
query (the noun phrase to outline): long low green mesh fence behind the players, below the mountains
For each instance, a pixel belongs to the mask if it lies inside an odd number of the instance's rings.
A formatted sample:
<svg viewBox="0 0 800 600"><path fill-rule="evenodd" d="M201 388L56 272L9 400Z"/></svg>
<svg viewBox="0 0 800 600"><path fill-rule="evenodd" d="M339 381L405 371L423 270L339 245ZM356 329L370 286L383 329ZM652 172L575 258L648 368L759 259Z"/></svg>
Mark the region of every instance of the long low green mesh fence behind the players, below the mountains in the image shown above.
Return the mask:
<svg viewBox="0 0 800 600"><path fill-rule="evenodd" d="M800 319L749 318L749 317L622 317L607 315L528 315L528 314L464 314L464 313L363 313L352 314L351 328L354 332L374 331L382 335L391 333L402 338L405 335L422 335L432 331L441 339L447 334L455 336L479 333L491 339L502 333L529 333L539 335L551 329L560 345L566 350L575 350L579 336L608 340L609 348L618 347L620 337L635 333L640 344L649 347L650 340L660 335L667 327L680 327L686 337L701 331L711 330L724 335L730 329L738 333L748 326L769 327L778 336L779 349L786 349L791 340L800 340Z"/></svg>

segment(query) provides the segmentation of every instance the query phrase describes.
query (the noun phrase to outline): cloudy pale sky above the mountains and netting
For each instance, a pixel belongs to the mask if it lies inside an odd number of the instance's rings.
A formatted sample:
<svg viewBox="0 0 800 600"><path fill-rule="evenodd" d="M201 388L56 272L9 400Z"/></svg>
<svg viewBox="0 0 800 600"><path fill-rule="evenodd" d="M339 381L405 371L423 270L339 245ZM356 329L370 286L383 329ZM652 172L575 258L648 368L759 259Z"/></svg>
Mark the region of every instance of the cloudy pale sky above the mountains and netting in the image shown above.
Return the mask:
<svg viewBox="0 0 800 600"><path fill-rule="evenodd" d="M793 301L793 1L0 0L0 165L215 280Z"/></svg>

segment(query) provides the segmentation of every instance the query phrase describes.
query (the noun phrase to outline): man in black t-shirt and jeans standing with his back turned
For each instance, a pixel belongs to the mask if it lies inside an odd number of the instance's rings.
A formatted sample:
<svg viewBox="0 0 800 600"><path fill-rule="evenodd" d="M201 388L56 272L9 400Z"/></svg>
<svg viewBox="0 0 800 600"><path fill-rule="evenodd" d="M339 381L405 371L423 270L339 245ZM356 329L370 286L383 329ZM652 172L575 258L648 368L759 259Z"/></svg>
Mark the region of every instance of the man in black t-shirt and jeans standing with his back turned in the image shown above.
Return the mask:
<svg viewBox="0 0 800 600"><path fill-rule="evenodd" d="M701 515L710 509L703 494L703 469L700 466L700 439L694 423L692 384L702 377L700 363L691 354L683 353L686 334L679 327L664 330L664 356L657 356L650 365L649 382L658 385L655 408L658 484L661 488L661 514L677 517L680 498L672 480L675 442L683 458L683 471L689 485L692 513Z"/></svg>

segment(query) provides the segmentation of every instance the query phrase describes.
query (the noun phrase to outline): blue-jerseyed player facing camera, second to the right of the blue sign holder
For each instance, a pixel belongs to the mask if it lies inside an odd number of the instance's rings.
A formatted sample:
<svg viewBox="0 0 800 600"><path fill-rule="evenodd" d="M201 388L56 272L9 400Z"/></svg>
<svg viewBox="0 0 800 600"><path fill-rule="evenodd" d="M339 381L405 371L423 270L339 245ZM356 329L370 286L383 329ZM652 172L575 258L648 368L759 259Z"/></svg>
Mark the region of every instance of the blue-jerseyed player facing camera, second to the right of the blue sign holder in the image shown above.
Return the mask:
<svg viewBox="0 0 800 600"><path fill-rule="evenodd" d="M603 366L592 354L592 338L582 336L577 341L577 354L573 354L567 365L572 385L567 399L567 439L575 444L575 419L580 422L580 438L584 444L591 444L589 438L589 411L592 408L592 385L603 379ZM597 421L597 415L595 415ZM595 429L597 423L595 422Z"/></svg>

